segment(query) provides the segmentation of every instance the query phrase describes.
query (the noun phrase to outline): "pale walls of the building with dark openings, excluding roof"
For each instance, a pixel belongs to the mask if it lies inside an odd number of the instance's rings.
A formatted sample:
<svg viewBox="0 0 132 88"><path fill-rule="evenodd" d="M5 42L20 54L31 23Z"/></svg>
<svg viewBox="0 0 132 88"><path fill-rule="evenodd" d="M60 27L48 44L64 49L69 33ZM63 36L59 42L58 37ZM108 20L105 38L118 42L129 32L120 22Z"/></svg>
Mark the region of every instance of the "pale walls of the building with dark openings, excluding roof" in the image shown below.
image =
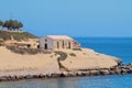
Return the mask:
<svg viewBox="0 0 132 88"><path fill-rule="evenodd" d="M47 48L45 48L45 44L47 44ZM45 50L78 48L79 44L73 40L53 40L45 36L40 40L40 47Z"/></svg>

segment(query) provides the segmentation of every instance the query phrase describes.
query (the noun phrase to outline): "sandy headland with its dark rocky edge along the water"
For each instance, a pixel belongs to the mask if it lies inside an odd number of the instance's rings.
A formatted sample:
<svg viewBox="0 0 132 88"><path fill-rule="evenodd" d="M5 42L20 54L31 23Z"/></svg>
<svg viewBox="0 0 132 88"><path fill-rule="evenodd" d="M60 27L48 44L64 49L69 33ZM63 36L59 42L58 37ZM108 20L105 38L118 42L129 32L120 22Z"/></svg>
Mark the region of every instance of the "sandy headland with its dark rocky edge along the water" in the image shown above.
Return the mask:
<svg viewBox="0 0 132 88"><path fill-rule="evenodd" d="M43 51L32 55L0 46L0 62L1 81L132 73L131 64L119 65L119 58L90 48Z"/></svg>

